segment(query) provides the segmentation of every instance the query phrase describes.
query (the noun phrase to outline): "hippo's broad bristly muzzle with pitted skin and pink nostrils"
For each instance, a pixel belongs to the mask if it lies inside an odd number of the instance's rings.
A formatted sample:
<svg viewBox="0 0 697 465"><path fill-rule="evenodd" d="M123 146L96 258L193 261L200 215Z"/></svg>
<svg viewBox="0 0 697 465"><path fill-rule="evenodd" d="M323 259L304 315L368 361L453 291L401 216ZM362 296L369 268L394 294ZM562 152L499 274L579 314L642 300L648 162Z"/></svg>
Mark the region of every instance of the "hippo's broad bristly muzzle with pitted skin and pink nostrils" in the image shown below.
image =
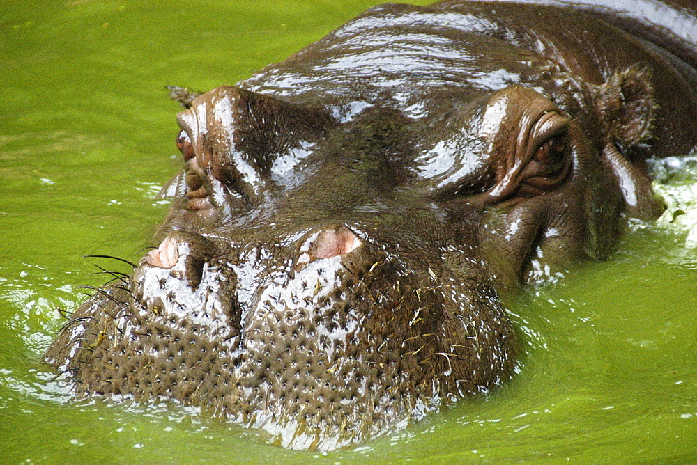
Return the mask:
<svg viewBox="0 0 697 465"><path fill-rule="evenodd" d="M473 364L512 363L507 349L485 349L486 325L504 326L504 346L514 341L500 309L493 321L468 316L486 294L429 285L443 270L416 265L369 225L328 223L275 242L238 234L176 230L144 255L130 292L119 288L100 314L107 336L86 338L95 347L85 355L105 365L85 375L89 389L174 395L283 446L326 449L420 418L439 390L498 383L468 375Z"/></svg>

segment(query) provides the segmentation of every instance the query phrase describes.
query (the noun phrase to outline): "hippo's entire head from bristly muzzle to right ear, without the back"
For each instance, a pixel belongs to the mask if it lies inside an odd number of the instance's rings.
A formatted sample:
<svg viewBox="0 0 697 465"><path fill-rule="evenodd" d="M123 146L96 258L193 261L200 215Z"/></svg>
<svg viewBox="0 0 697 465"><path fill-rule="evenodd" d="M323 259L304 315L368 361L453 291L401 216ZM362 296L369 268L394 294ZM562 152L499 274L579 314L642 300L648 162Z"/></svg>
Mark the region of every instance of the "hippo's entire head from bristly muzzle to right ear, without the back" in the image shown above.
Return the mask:
<svg viewBox="0 0 697 465"><path fill-rule="evenodd" d="M654 213L631 158L655 107L641 68L339 100L325 74L259 84L283 72L178 115L158 247L49 349L77 391L173 398L292 448L376 436L509 378L497 292L604 258L622 212Z"/></svg>

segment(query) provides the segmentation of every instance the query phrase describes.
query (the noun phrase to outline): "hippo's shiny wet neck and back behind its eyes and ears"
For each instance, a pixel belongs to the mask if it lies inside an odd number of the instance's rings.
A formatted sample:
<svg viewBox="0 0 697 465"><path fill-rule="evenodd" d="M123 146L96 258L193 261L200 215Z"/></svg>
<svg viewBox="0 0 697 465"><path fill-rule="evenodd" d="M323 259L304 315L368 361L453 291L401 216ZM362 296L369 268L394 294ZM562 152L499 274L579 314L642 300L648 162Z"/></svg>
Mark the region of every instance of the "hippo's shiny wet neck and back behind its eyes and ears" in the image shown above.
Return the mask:
<svg viewBox="0 0 697 465"><path fill-rule="evenodd" d="M623 8L605 3L387 3L238 86L289 102L321 104L344 120L379 105L430 121L441 118L449 102L458 106L461 95L470 100L473 93L522 84L581 117L593 91L585 86L600 86L618 70L638 64L663 84L653 89L659 108L647 155L689 152L697 144L691 127L697 118L695 8L687 1L645 0ZM630 15L635 6L637 13Z"/></svg>

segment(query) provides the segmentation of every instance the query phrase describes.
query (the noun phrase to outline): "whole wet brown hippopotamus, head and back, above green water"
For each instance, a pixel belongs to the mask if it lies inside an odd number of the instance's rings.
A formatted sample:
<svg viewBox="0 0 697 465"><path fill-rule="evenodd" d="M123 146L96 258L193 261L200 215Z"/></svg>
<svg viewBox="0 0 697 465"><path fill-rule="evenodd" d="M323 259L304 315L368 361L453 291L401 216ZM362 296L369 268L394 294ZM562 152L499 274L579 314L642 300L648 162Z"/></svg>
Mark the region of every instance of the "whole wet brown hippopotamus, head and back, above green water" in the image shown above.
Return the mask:
<svg viewBox="0 0 697 465"><path fill-rule="evenodd" d="M155 246L47 360L77 395L298 449L491 392L524 359L500 296L606 259L661 212L647 159L697 143L695 8L587 3L385 4L235 86L175 88Z"/></svg>

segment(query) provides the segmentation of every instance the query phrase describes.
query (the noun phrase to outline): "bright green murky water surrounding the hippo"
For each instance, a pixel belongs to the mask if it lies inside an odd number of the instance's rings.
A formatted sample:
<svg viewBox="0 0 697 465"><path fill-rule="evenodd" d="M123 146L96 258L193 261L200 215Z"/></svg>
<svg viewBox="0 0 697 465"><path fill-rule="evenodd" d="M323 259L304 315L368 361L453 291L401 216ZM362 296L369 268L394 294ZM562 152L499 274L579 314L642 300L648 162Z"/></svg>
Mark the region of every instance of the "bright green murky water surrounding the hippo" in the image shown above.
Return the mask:
<svg viewBox="0 0 697 465"><path fill-rule="evenodd" d="M83 255L136 260L166 211L154 194L180 161L163 86L233 84L370 4L0 0L0 462L697 460L697 249L673 226L509 301L528 354L500 391L351 450L282 450L51 382L56 308L105 281Z"/></svg>

